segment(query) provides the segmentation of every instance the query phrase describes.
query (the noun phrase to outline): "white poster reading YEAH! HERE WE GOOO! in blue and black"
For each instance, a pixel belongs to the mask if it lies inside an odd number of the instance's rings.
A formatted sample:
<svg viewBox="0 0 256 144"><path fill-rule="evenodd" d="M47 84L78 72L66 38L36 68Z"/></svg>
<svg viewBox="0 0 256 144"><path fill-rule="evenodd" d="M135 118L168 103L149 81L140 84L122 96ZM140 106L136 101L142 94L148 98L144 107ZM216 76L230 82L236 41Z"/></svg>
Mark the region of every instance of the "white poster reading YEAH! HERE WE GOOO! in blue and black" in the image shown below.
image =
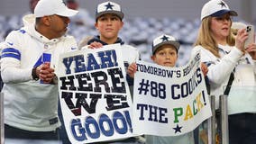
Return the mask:
<svg viewBox="0 0 256 144"><path fill-rule="evenodd" d="M133 103L119 44L62 54L56 71L71 143L133 136Z"/></svg>

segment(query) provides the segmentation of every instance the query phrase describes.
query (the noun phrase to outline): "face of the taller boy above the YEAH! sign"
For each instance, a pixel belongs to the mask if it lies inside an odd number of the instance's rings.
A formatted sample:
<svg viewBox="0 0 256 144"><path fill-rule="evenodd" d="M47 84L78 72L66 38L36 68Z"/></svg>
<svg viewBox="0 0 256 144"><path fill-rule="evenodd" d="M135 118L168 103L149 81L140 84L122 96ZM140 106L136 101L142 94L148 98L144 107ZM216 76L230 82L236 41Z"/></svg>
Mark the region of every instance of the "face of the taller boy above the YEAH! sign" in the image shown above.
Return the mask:
<svg viewBox="0 0 256 144"><path fill-rule="evenodd" d="M116 14L103 14L95 23L103 41L116 40L118 32L123 28L123 21Z"/></svg>

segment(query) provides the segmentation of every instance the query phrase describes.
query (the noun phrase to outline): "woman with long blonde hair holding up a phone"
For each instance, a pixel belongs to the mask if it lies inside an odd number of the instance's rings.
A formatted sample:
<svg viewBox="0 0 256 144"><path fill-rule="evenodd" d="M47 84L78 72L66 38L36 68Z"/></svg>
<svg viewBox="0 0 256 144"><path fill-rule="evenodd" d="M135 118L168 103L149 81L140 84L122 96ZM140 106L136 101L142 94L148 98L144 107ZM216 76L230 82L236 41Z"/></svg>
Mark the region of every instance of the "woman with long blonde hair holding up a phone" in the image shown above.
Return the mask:
<svg viewBox="0 0 256 144"><path fill-rule="evenodd" d="M256 44L244 48L245 29L234 38L231 16L237 13L222 0L210 0L201 12L201 26L192 54L200 51L208 66L210 94L228 95L230 144L256 141ZM218 109L218 102L216 102Z"/></svg>

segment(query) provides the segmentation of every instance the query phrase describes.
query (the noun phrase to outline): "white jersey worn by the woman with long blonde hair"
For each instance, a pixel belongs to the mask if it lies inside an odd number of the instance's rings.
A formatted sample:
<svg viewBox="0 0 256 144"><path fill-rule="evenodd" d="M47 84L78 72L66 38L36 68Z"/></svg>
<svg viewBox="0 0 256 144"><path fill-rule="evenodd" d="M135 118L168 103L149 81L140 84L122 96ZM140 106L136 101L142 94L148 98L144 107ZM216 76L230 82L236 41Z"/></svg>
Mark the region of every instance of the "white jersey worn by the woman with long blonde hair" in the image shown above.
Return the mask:
<svg viewBox="0 0 256 144"><path fill-rule="evenodd" d="M248 53L243 55L240 49L218 45L221 58L216 58L209 50L201 46L192 49L192 54L200 50L201 61L208 66L207 77L211 95L216 96L216 108L219 107L218 96L224 89L233 72L234 79L228 95L228 113L256 112L256 61Z"/></svg>

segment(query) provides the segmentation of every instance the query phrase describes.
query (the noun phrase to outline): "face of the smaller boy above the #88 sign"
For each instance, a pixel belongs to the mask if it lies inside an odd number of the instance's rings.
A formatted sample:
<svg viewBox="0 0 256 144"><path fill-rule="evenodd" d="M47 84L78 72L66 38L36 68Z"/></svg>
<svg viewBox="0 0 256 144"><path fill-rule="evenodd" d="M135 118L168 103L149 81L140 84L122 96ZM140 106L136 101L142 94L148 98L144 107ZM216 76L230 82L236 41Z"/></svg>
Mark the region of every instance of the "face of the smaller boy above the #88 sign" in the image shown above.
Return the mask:
<svg viewBox="0 0 256 144"><path fill-rule="evenodd" d="M151 59L160 66L174 67L178 59L177 49L169 44L162 45Z"/></svg>

